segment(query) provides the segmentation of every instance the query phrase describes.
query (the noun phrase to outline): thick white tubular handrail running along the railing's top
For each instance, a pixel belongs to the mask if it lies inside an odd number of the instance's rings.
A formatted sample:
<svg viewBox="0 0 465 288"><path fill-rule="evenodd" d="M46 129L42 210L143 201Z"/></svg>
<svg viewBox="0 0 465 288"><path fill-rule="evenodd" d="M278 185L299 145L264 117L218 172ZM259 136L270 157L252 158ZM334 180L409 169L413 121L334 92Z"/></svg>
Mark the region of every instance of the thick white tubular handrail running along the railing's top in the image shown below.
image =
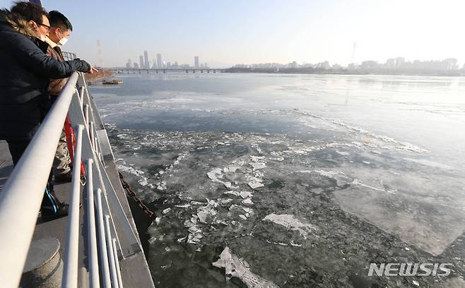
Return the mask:
<svg viewBox="0 0 465 288"><path fill-rule="evenodd" d="M74 72L0 193L2 287L19 285L61 130L71 98L76 93L77 80L78 73Z"/></svg>

